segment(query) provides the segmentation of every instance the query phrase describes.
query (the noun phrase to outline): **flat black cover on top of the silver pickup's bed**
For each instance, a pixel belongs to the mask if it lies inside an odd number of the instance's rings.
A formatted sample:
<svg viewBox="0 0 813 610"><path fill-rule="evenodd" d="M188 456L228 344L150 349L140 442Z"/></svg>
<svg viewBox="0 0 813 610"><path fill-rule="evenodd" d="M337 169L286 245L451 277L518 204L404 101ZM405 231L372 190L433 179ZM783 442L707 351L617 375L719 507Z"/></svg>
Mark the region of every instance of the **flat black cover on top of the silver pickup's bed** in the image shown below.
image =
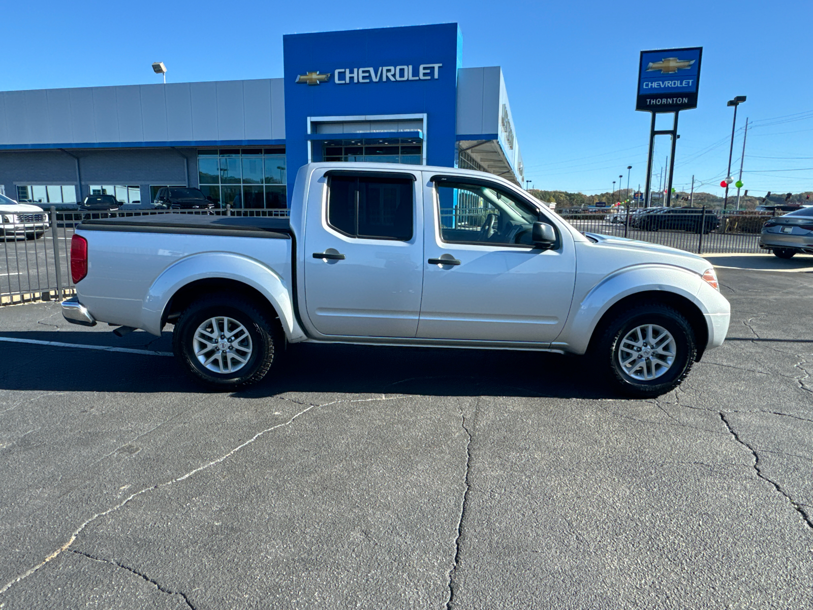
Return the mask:
<svg viewBox="0 0 813 610"><path fill-rule="evenodd" d="M290 239L292 234L288 218L214 216L209 214L153 214L150 216L84 220L77 229L85 231L122 231L125 233L267 237L272 239Z"/></svg>

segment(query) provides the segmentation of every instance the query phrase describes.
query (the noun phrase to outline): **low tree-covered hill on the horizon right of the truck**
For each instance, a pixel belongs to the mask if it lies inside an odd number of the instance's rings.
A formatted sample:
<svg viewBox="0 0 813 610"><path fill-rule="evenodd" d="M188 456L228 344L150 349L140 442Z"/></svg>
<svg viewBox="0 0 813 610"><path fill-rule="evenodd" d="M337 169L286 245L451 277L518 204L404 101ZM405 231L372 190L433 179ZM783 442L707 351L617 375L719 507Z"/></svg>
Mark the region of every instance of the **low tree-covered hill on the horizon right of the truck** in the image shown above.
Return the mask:
<svg viewBox="0 0 813 610"><path fill-rule="evenodd" d="M613 205L616 201L619 201L619 192L615 191L615 193L610 193L609 191L606 193L600 193L596 195L585 195L584 193L569 193L565 190L540 190L540 189L531 189L528 191L530 194L533 194L534 197L539 199L540 201L556 202L557 207L588 207L594 206L596 202L603 201L606 202L607 205ZM624 192L622 191L621 196L624 196ZM632 193L630 193L632 194ZM785 198L787 197L787 193L781 194L772 194L767 202L764 202L768 205L771 204L778 204L778 203L785 203ZM654 198L654 201L657 202L657 196ZM794 193L790 194L789 203L809 203L813 205L813 191L806 191L804 193ZM711 193L695 193L693 196L692 205L693 206L706 206L706 207L715 207L715 208L722 208L724 202L724 197L720 195L713 195ZM753 210L754 207L763 204L762 197L741 197L740 198L740 209L746 210ZM672 194L672 206L676 207L683 207L689 205L689 193L685 191L678 191ZM732 189L728 191L728 209L732 209L733 207L737 206L737 190Z"/></svg>

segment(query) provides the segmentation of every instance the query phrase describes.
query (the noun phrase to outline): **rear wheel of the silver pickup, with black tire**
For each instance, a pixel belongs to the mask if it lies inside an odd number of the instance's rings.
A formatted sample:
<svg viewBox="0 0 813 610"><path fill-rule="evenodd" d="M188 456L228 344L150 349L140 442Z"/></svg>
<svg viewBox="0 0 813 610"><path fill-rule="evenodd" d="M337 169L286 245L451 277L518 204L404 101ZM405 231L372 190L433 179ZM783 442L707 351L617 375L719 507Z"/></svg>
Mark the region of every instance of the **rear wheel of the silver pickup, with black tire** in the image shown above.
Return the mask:
<svg viewBox="0 0 813 610"><path fill-rule="evenodd" d="M219 337L214 333L214 323ZM231 333L224 333L224 323ZM211 350L202 351L207 345L203 338L207 343L210 338L216 340L225 350L213 345ZM186 372L220 390L250 386L263 379L281 342L276 325L254 303L228 294L213 294L192 303L181 313L172 333L172 350ZM196 348L200 356L195 354Z"/></svg>

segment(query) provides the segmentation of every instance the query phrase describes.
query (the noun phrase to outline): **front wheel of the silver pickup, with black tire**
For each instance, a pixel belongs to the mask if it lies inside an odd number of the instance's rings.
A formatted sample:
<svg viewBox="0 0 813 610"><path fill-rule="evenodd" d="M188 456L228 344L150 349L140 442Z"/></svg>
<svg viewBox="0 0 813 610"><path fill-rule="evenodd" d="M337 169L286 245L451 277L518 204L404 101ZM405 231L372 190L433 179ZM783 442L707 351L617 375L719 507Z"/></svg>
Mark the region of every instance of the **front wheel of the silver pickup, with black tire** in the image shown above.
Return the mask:
<svg viewBox="0 0 813 610"><path fill-rule="evenodd" d="M650 326L653 327L651 334L647 331ZM644 329L642 336L637 334L637 329L641 327ZM662 330L668 336L664 336ZM628 361L628 357L633 357L639 351L631 339L646 344L647 334L654 338L655 345L672 353L672 356L654 354L639 363L641 356L638 355L624 367L622 362L625 359ZM643 346L640 351L649 353ZM680 312L661 303L641 303L606 325L592 355L593 362L616 390L628 396L651 398L680 385L689 374L697 351L694 331L689 320ZM660 356L660 359L656 356ZM651 378L641 378L650 375Z"/></svg>

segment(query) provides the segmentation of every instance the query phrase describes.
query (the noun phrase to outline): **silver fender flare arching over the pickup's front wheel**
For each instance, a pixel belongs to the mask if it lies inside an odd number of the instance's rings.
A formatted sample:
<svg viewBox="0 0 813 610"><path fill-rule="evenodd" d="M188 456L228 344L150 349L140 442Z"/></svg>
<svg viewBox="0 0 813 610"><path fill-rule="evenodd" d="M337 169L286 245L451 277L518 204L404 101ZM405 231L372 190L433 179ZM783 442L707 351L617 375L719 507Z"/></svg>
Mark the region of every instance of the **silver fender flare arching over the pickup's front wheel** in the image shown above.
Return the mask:
<svg viewBox="0 0 813 610"><path fill-rule="evenodd" d="M573 303L573 312L556 343L565 343L567 351L584 354L599 320L615 303L636 293L663 292L686 298L705 316L707 307L698 299L702 278L689 269L665 264L633 265L611 273ZM576 308L577 307L577 308ZM707 320L707 318L706 318Z"/></svg>

